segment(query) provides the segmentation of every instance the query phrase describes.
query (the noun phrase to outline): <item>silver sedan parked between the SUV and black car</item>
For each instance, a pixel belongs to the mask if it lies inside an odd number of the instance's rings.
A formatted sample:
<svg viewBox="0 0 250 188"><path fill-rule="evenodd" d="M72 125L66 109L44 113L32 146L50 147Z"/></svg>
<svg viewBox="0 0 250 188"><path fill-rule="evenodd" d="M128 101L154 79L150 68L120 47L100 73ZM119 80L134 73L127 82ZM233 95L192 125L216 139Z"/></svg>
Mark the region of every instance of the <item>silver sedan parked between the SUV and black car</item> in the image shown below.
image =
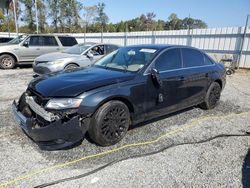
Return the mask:
<svg viewBox="0 0 250 188"><path fill-rule="evenodd" d="M64 50L44 54L35 59L33 70L36 74L86 67L106 54L117 50L119 46L114 44L83 43Z"/></svg>

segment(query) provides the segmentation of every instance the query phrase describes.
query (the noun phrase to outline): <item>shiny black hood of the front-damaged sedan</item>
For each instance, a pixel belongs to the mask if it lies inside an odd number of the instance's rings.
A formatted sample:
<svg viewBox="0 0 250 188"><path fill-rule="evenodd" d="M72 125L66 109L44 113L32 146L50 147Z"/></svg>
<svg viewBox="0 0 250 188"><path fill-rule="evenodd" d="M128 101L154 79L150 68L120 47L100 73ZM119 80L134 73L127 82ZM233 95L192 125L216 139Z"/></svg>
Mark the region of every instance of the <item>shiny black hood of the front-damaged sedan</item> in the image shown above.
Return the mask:
<svg viewBox="0 0 250 188"><path fill-rule="evenodd" d="M29 89L43 97L76 97L85 91L131 80L134 73L110 69L82 68L33 79Z"/></svg>

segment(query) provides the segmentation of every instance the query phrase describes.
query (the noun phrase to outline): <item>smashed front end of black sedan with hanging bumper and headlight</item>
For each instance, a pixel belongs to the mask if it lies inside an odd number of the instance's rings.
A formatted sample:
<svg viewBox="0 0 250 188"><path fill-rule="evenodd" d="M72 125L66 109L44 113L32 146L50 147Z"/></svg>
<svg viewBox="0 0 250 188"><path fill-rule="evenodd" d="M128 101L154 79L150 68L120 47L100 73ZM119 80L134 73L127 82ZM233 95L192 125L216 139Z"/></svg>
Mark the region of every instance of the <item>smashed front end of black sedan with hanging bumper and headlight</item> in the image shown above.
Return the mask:
<svg viewBox="0 0 250 188"><path fill-rule="evenodd" d="M80 99L48 99L27 90L12 109L21 128L41 149L57 150L80 143L88 130L89 118L77 113L80 103Z"/></svg>

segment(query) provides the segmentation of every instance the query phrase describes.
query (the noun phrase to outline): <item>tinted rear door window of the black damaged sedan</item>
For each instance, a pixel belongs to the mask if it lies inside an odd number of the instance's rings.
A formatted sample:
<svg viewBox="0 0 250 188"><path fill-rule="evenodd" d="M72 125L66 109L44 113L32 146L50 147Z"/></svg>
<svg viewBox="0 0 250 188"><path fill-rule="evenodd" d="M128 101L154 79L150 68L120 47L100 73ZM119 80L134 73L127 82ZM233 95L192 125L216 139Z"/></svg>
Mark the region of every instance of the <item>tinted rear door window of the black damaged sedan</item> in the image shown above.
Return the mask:
<svg viewBox="0 0 250 188"><path fill-rule="evenodd" d="M183 48L182 58L184 67L196 67L204 65L203 54L198 50Z"/></svg>

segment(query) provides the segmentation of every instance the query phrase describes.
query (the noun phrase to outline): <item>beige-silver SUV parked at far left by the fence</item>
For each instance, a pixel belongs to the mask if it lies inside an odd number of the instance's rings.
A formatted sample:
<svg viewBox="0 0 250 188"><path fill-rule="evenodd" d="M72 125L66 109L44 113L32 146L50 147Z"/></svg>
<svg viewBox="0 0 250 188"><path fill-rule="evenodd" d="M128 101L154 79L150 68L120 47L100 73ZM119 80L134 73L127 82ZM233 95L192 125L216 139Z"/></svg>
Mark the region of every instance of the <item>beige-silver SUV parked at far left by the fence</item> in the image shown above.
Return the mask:
<svg viewBox="0 0 250 188"><path fill-rule="evenodd" d="M49 52L60 52L75 44L77 44L77 41L72 36L28 35L20 42L10 41L6 45L0 46L0 68L12 69L16 64L32 63L40 55Z"/></svg>

